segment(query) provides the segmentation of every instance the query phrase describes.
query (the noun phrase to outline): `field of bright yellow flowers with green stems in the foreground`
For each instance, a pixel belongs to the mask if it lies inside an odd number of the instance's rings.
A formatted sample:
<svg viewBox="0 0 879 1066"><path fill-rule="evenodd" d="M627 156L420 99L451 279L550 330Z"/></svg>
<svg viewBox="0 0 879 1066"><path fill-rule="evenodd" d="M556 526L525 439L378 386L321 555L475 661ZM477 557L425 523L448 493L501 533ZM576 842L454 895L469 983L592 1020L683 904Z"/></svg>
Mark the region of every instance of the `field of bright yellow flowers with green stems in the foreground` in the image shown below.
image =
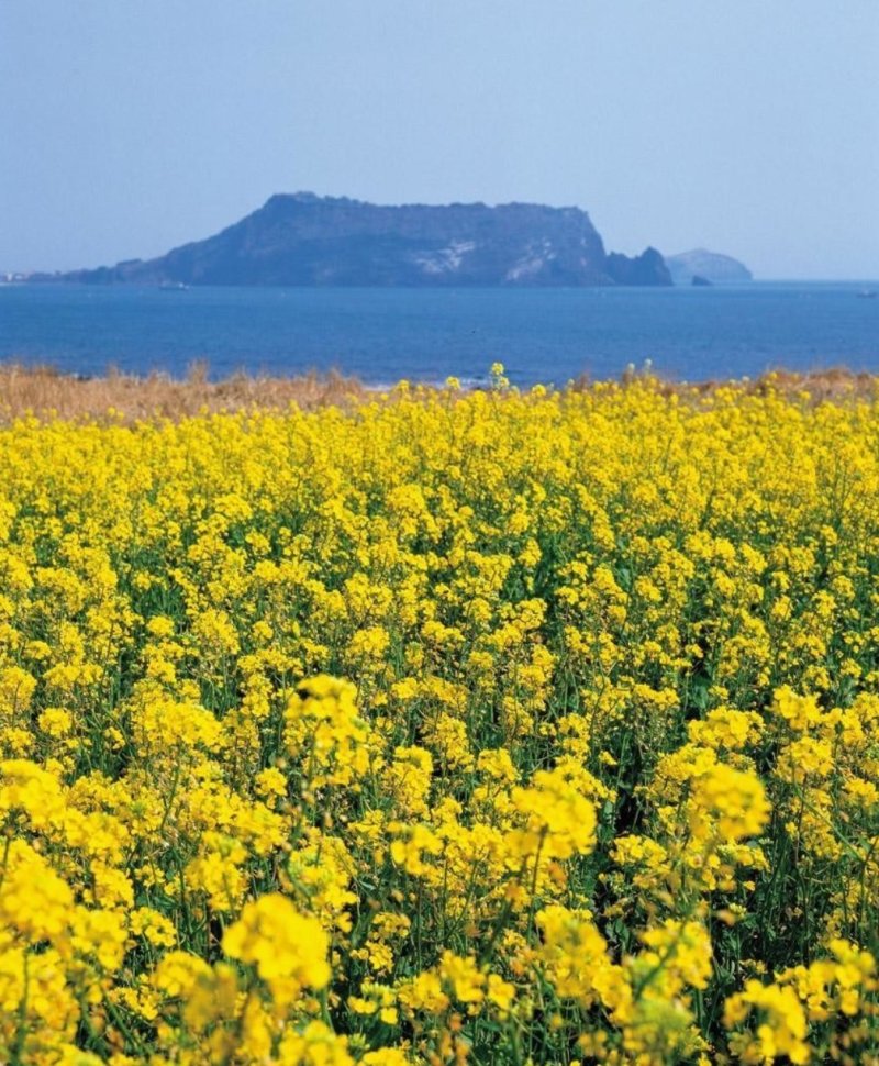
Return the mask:
<svg viewBox="0 0 879 1066"><path fill-rule="evenodd" d="M879 400L0 430L4 1064L877 1063L878 785Z"/></svg>

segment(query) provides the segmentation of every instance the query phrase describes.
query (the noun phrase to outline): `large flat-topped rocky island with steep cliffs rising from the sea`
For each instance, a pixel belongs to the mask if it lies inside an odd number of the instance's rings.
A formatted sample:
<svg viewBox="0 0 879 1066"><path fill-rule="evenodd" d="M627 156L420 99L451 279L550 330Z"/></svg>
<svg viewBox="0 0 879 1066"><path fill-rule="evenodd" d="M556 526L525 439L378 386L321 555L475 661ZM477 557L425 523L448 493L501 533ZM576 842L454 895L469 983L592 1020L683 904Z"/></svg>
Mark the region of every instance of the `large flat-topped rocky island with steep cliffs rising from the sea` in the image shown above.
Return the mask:
<svg viewBox="0 0 879 1066"><path fill-rule="evenodd" d="M277 195L221 233L64 280L264 286L671 285L655 248L608 254L586 211L534 203L379 207Z"/></svg>

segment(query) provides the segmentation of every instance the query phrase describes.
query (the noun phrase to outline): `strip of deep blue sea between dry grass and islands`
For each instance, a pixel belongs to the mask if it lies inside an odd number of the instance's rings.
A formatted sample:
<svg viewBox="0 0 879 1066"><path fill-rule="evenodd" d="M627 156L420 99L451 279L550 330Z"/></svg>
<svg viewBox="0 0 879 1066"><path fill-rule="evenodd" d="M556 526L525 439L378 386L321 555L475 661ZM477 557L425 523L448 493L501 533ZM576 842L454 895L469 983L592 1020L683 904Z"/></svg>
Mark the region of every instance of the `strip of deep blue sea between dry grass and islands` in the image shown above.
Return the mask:
<svg viewBox="0 0 879 1066"><path fill-rule="evenodd" d="M879 371L879 299L865 284L647 289L0 287L0 360L66 373L293 375L368 384L617 377L633 363L682 380L774 367ZM875 286L874 286L875 288Z"/></svg>

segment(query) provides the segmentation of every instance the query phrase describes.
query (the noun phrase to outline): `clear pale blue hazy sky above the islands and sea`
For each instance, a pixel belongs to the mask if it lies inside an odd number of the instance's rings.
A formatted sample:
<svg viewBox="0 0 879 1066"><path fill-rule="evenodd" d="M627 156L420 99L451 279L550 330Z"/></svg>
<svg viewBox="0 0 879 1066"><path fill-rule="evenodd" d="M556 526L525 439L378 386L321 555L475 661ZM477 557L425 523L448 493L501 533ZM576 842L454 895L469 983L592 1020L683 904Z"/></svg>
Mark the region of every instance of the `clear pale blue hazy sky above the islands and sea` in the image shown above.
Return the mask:
<svg viewBox="0 0 879 1066"><path fill-rule="evenodd" d="M0 268L303 189L876 278L879 0L0 0Z"/></svg>

